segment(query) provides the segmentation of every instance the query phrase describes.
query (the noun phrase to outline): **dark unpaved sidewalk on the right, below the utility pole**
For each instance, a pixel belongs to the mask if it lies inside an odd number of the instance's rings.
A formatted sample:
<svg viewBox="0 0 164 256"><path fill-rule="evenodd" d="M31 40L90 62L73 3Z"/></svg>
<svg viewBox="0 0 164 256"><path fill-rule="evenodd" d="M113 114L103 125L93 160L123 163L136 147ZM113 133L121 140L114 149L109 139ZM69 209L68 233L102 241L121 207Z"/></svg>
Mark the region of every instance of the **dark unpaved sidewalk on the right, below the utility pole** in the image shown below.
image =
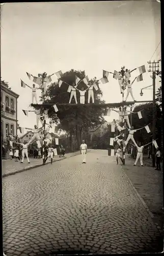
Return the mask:
<svg viewBox="0 0 164 256"><path fill-rule="evenodd" d="M124 173L138 191L149 210L153 220L163 230L163 175L162 171L152 167L152 159L143 159L144 167L140 162L133 166L134 159L126 157L125 165L121 165ZM146 164L146 165L145 165Z"/></svg>

